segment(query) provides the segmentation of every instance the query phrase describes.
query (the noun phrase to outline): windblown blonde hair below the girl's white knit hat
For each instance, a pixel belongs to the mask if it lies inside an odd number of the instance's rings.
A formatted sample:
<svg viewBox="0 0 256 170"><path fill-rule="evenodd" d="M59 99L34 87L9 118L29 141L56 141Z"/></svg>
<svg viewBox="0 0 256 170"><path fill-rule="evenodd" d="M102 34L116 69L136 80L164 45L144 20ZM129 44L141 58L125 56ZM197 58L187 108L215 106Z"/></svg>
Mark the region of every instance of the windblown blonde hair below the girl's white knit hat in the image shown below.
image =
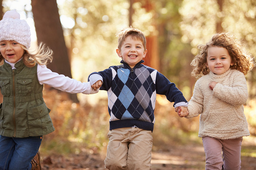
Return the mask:
<svg viewBox="0 0 256 170"><path fill-rule="evenodd" d="M46 65L52 61L53 51L42 42L39 43L39 46L35 49L35 51L29 51L24 45L21 45L21 48L23 48L25 51L23 54L23 63L27 67L34 67L36 63ZM1 65L3 64L3 60L4 58L1 55Z"/></svg>

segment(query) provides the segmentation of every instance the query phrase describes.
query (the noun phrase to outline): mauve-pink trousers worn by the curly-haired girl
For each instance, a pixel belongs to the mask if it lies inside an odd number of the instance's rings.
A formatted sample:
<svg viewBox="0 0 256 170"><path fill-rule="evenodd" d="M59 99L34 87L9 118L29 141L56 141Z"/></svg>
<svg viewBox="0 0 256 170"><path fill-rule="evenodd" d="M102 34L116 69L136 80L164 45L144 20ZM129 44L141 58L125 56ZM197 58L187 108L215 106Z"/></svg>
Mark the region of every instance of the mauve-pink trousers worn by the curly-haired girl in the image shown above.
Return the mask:
<svg viewBox="0 0 256 170"><path fill-rule="evenodd" d="M224 170L240 170L243 137L222 140L205 136L202 140L206 156L206 170L221 170L223 167Z"/></svg>

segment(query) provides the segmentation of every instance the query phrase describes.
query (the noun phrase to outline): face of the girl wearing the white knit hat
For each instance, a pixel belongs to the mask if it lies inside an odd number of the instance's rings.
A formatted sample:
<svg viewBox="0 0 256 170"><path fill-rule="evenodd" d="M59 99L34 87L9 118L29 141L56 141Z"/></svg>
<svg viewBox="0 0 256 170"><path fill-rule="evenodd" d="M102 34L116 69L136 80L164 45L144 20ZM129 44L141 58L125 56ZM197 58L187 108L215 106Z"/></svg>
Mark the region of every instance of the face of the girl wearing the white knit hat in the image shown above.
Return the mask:
<svg viewBox="0 0 256 170"><path fill-rule="evenodd" d="M16 63L21 59L25 50L16 41L3 40L0 42L0 52L8 62Z"/></svg>

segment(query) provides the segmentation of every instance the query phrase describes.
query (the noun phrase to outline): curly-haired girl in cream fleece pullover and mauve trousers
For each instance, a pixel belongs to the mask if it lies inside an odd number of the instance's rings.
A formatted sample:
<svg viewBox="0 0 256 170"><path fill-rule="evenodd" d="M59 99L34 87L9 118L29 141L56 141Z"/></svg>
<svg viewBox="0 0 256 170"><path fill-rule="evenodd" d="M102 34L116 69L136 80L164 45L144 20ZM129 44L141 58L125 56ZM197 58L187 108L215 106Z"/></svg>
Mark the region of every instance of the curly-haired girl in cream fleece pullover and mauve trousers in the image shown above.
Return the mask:
<svg viewBox="0 0 256 170"><path fill-rule="evenodd" d="M205 169L238 170L243 136L250 135L243 104L248 97L245 75L253 68L253 57L231 33L217 33L198 47L191 65L192 75L201 78L185 117L201 114L198 136L205 149Z"/></svg>

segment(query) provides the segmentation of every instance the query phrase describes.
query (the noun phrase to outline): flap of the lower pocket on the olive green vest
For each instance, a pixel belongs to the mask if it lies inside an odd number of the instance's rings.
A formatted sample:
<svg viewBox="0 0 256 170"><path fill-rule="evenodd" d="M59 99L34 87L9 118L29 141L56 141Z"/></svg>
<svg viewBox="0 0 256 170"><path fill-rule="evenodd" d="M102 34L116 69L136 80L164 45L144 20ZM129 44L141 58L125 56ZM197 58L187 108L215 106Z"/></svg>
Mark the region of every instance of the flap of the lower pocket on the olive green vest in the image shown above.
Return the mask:
<svg viewBox="0 0 256 170"><path fill-rule="evenodd" d="M32 107L27 109L28 120L37 119L49 114L50 109L47 108L46 104L43 103L40 106Z"/></svg>

